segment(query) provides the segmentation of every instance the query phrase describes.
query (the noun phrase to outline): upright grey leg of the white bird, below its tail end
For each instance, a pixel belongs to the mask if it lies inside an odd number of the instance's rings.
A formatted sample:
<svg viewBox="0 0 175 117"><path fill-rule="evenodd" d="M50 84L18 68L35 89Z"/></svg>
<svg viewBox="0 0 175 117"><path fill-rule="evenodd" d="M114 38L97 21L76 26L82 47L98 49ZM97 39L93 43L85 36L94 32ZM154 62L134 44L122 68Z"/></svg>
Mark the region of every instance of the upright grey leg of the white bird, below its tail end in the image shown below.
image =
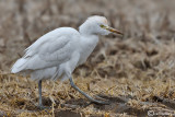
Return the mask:
<svg viewBox="0 0 175 117"><path fill-rule="evenodd" d="M42 80L38 81L38 93L39 93L39 109L45 109L45 108L50 108L50 107L46 107L43 106L43 101L42 101Z"/></svg>

